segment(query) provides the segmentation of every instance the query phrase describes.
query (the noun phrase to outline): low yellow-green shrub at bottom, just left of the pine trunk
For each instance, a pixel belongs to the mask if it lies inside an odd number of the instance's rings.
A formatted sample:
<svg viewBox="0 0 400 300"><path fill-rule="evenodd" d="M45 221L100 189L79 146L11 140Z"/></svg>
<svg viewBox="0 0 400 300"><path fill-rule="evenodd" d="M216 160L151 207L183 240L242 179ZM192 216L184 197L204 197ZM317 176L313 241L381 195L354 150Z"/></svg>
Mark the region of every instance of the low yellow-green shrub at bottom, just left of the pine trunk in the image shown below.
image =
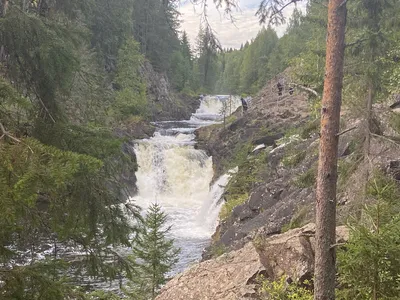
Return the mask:
<svg viewBox="0 0 400 300"><path fill-rule="evenodd" d="M278 281L269 281L265 278L259 278L261 282L261 299L265 300L312 300L313 294L305 287L296 283L287 283L287 277L282 276ZM302 285L309 285L303 282Z"/></svg>

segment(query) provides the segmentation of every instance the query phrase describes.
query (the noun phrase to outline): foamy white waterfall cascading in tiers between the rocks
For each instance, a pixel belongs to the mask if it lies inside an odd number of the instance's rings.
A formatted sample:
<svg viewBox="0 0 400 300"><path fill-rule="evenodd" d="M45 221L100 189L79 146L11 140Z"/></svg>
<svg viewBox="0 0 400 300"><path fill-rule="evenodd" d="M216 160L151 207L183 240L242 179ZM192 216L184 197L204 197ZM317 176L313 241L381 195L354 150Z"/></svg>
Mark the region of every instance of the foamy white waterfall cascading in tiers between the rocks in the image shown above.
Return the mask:
<svg viewBox="0 0 400 300"><path fill-rule="evenodd" d="M219 122L223 101L229 101L229 96L204 97L190 120L157 122L154 136L138 140L135 146L139 192L132 200L143 209L158 203L168 214L172 237L181 248L175 272L201 257L217 225L219 200L231 176L221 176L210 187L212 158L194 149L193 132ZM232 112L240 104L238 97L232 97Z"/></svg>

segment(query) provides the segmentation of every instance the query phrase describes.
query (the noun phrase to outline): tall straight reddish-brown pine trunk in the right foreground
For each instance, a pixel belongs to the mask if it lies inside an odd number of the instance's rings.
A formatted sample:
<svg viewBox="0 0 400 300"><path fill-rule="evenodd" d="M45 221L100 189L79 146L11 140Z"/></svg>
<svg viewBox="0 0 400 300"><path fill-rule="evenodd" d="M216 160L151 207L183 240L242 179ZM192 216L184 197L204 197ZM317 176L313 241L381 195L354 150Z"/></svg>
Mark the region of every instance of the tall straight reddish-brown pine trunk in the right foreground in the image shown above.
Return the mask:
<svg viewBox="0 0 400 300"><path fill-rule="evenodd" d="M315 300L335 299L337 152L342 102L346 1L330 0L321 112L315 233Z"/></svg>

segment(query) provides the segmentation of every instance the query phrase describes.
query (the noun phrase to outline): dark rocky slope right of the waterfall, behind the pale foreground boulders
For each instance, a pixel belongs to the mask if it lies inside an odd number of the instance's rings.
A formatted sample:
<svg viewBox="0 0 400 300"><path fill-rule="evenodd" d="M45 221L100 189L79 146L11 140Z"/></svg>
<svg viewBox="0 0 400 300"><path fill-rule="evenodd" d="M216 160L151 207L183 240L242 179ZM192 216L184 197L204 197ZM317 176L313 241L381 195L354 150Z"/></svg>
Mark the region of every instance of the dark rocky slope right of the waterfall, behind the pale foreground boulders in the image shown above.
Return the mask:
<svg viewBox="0 0 400 300"><path fill-rule="evenodd" d="M310 113L312 102L306 92L284 91L279 96L275 87L276 82L270 82L246 113L239 109L225 126L196 132L197 147L213 157L216 177L239 167L221 200L225 204L220 222L204 260L241 249L259 233L268 236L314 220L319 118ZM400 117L389 106L374 106L370 167L396 173L398 147L392 138L394 117ZM355 115L342 111L341 130L353 129L339 138L338 220L342 223L358 205L365 186L364 127Z"/></svg>

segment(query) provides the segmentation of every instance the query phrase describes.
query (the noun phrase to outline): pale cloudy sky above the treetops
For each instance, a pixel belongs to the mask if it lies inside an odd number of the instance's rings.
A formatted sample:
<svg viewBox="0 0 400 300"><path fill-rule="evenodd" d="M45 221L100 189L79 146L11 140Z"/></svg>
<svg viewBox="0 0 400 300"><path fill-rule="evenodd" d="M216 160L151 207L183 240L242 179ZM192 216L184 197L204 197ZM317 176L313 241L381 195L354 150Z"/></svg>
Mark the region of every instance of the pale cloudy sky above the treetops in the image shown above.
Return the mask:
<svg viewBox="0 0 400 300"><path fill-rule="evenodd" d="M232 23L224 15L223 9L218 10L212 0L207 0L208 20L223 48L240 48L241 44L255 38L263 26L259 24L258 17L255 16L261 0L238 0L238 2L239 7L232 14L235 22ZM294 8L295 5L287 7L284 14L290 17ZM298 8L302 7L298 5ZM200 28L202 7L194 5L190 0L181 0L179 11L181 13L182 30L187 32L190 42L193 45ZM278 36L282 36L285 29L285 25L275 28Z"/></svg>

